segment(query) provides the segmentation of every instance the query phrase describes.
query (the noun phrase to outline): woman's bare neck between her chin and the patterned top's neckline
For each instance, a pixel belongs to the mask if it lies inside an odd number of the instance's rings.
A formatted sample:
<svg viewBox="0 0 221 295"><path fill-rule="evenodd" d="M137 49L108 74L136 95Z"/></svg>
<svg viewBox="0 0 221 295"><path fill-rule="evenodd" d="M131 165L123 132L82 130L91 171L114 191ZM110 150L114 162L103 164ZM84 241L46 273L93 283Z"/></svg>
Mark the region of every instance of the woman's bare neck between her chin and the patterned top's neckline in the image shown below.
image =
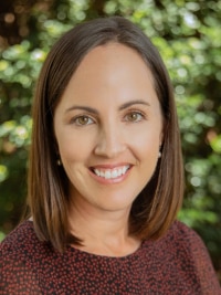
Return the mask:
<svg viewBox="0 0 221 295"><path fill-rule="evenodd" d="M125 256L135 252L140 242L128 234L129 210L109 212L103 210L82 210L76 204L70 210L71 232L83 240L85 252Z"/></svg>

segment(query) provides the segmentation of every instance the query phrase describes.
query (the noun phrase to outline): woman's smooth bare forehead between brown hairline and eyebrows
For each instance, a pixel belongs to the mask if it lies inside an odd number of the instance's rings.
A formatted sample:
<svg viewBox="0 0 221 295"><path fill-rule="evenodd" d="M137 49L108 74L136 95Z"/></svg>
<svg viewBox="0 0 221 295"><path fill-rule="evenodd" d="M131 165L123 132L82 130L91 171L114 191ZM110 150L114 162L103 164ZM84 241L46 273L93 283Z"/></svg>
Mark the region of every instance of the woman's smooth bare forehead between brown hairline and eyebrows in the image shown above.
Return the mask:
<svg viewBox="0 0 221 295"><path fill-rule="evenodd" d="M144 97L157 105L154 84L150 70L135 50L108 43L94 48L84 56L56 106L104 104L108 107Z"/></svg>

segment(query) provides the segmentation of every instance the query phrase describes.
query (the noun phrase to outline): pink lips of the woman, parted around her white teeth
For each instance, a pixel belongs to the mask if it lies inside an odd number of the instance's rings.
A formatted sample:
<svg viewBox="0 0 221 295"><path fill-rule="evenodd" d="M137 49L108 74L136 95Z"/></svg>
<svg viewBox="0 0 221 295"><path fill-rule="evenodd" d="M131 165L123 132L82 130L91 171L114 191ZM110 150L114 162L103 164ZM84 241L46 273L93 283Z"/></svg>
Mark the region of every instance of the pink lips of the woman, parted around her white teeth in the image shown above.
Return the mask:
<svg viewBox="0 0 221 295"><path fill-rule="evenodd" d="M122 181L124 181L128 175L130 173L130 170L133 168L133 165L129 164L117 164L117 165L96 165L90 168L90 175L98 182L104 183L104 185L108 185L108 183L119 183ZM122 169L122 171L124 171L122 175L114 177L114 178L105 178L105 177L101 177L98 175L96 175L94 172L94 170L106 170L106 172L108 171L118 171L119 169ZM126 169L126 171L125 171ZM105 171L103 171L105 172Z"/></svg>

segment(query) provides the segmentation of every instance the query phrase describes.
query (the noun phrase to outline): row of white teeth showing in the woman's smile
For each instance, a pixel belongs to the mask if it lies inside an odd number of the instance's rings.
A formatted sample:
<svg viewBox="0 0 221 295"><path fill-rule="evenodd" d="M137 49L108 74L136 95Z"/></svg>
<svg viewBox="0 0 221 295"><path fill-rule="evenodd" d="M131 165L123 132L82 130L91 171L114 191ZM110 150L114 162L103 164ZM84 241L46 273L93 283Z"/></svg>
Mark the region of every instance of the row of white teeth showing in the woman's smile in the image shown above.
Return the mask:
<svg viewBox="0 0 221 295"><path fill-rule="evenodd" d="M115 179L120 176L124 176L130 168L131 168L130 165L125 165L113 169L92 168L92 171L101 178Z"/></svg>

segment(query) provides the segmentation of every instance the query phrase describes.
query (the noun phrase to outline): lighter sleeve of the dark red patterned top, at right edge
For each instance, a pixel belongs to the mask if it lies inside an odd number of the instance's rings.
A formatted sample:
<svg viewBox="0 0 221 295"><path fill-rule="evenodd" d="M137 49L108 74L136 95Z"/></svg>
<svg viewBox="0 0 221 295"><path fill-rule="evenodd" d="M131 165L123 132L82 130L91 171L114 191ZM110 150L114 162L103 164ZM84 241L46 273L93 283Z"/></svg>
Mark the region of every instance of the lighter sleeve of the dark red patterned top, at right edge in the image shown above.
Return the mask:
<svg viewBox="0 0 221 295"><path fill-rule="evenodd" d="M183 225L186 226L186 225ZM188 234L187 234L188 231ZM186 229L187 250L191 257L194 274L200 285L201 295L221 295L221 287L214 272L208 250L201 238L192 230Z"/></svg>

